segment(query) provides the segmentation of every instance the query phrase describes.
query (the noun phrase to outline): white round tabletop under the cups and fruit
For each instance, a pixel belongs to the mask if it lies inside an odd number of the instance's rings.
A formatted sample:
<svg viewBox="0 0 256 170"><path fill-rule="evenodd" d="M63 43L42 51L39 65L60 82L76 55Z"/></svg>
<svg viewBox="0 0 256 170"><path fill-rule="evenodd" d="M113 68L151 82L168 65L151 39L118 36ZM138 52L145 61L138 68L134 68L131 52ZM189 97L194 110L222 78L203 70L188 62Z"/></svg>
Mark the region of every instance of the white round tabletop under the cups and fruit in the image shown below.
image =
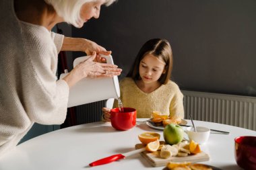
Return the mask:
<svg viewBox="0 0 256 170"><path fill-rule="evenodd" d="M190 120L187 122L191 125ZM201 144L201 150L210 155L210 161L201 163L220 169L240 169L234 159L234 138L256 136L256 131L196 120L195 126L230 132L230 134L210 134L207 143ZM126 131L115 130L109 123L104 122L56 130L13 148L0 158L0 169L164 169L164 167L152 167L139 154L106 165L88 166L89 163L103 157L135 150L135 144L140 143L138 134L146 131L158 132L161 134L160 140L164 140L161 130L152 129L145 123L139 122L134 128Z"/></svg>

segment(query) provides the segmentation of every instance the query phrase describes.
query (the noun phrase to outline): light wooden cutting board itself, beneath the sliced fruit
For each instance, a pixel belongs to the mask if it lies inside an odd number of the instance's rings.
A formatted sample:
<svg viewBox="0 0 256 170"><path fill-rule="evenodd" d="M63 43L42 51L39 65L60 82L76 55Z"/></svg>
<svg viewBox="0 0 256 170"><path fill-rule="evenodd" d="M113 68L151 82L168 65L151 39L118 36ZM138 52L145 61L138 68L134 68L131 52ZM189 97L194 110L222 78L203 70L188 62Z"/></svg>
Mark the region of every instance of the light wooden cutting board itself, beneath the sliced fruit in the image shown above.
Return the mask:
<svg viewBox="0 0 256 170"><path fill-rule="evenodd" d="M136 145L135 148L139 148L139 145ZM166 166L166 164L170 161L172 162L201 162L201 161L209 161L210 157L207 155L207 153L197 153L195 155L189 155L187 157L169 157L168 159L162 159L160 157L160 151L156 151L154 153L150 153L148 151L144 151L141 153L142 157L144 157L150 165L153 167L160 167L160 166Z"/></svg>

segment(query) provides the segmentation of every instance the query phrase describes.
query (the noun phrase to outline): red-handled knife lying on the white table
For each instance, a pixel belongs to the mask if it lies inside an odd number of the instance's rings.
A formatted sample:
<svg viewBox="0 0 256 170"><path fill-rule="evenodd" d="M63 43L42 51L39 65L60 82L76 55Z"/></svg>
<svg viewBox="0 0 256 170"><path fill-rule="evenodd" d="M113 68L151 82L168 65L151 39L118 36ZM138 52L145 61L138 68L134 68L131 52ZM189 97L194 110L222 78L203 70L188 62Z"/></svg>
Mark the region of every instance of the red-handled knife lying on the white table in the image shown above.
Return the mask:
<svg viewBox="0 0 256 170"><path fill-rule="evenodd" d="M90 165L90 167L94 167L94 166L97 166L97 165L112 163L113 161L117 161L119 159L125 159L126 157L129 157L129 156L134 155L136 153L141 153L143 151L146 151L146 149L145 148L139 148L135 151L130 151L128 153L123 153L123 154L112 155L110 157L106 157L106 158L100 159L98 161L94 161L94 162L90 163L89 165Z"/></svg>

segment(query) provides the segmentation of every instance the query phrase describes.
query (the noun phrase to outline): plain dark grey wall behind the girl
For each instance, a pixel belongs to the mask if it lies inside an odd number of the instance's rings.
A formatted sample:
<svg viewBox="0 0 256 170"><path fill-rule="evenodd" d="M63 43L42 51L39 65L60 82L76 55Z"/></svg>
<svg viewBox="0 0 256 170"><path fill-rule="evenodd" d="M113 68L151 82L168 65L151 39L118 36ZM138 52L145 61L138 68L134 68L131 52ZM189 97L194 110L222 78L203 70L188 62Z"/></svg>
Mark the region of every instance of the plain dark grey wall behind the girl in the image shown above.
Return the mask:
<svg viewBox="0 0 256 170"><path fill-rule="evenodd" d="M119 78L146 40L165 38L181 89L256 96L255 0L119 0L72 35L113 50Z"/></svg>

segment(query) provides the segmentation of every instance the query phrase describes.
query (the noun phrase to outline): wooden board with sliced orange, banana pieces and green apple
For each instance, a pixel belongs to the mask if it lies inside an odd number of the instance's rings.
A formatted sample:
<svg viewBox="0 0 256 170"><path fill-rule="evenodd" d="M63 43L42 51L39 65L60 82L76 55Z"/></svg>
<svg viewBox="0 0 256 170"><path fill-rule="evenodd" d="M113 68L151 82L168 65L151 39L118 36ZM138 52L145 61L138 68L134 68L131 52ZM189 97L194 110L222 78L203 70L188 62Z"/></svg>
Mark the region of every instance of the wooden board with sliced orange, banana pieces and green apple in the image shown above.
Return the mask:
<svg viewBox="0 0 256 170"><path fill-rule="evenodd" d="M175 126L170 124L168 126ZM166 126L168 128L168 126ZM169 132L166 132L166 134ZM175 132L171 132L174 134ZM138 138L141 141L140 144L136 144L135 148L146 147L146 151L141 153L152 166L159 167L167 165L168 163L194 163L199 161L208 161L209 155L201 151L198 143L188 142L183 140L182 136L177 138L168 138L164 134L165 141L159 141L160 134L157 132L143 132L139 134Z"/></svg>

